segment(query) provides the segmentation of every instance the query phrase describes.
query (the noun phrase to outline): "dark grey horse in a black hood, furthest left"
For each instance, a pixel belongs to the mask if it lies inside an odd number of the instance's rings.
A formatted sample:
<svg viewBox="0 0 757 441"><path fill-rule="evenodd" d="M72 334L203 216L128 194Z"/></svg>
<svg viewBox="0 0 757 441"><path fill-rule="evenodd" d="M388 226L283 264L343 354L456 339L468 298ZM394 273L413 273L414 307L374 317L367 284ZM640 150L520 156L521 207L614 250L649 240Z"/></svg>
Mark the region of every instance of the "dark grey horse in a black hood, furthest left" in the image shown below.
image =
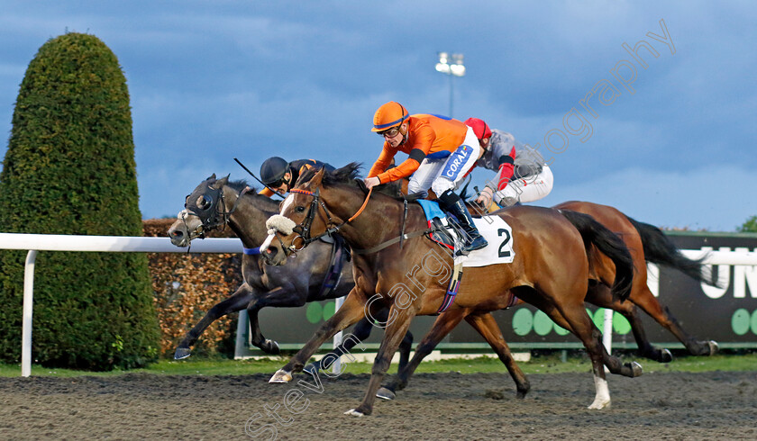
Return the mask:
<svg viewBox="0 0 757 441"><path fill-rule="evenodd" d="M278 202L258 194L244 181L229 181L229 176L216 179L215 174L198 184L187 196L186 209L181 211L178 219L169 228L171 243L177 247L187 247L195 238L202 238L213 229L228 225L242 245L248 249L260 247L268 232L265 220L278 213ZM242 194L242 195L241 195ZM355 285L352 280L350 261L345 261L339 282L332 290L322 289L324 279L328 276L330 257L333 246L324 241L317 241L300 253L287 266L264 265L265 256L260 254L242 255L242 278L244 283L229 298L216 303L205 317L200 320L178 344L174 359L180 360L191 355L191 347L215 320L236 311L247 310L251 327L251 344L263 352L278 355L280 350L274 340L264 338L260 331L258 312L265 307L292 308L327 299L342 297ZM379 311L380 319L388 311ZM386 319L384 319L386 320ZM373 323L363 320L358 323L352 334L363 340L368 338ZM351 341L351 339L347 340ZM413 336L408 333L400 346L400 365L406 365L413 344ZM337 351L342 355L344 351ZM316 362L317 368L325 362L335 359L324 356Z"/></svg>

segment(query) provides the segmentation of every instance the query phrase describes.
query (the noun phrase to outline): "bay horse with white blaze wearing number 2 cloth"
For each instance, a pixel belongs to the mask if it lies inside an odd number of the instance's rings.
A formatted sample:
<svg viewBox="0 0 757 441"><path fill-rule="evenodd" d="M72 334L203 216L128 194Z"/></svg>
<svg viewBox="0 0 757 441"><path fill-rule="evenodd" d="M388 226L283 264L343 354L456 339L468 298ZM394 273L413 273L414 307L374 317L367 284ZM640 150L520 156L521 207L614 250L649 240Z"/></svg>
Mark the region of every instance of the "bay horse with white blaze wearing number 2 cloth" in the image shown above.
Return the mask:
<svg viewBox="0 0 757 441"><path fill-rule="evenodd" d="M438 247L424 237L428 231L422 208L380 193L368 201L364 185L356 180L359 167L352 163L333 173L321 169L301 175L282 202L281 214L267 222L269 228L275 226L278 231L262 247L269 261L284 265L288 256L314 243L315 238L339 231L352 248L356 281L342 308L271 377L270 383L290 382L292 374L303 370L327 338L371 316L379 307L389 308L391 320L384 323L385 334L368 390L360 406L345 412L352 416L372 412L375 394L411 320L415 315L437 313L447 291L446 284L439 283L439 273L420 271L424 258ZM581 340L595 379L596 394L589 409L607 407L610 397L604 365L613 374L629 377L641 374L641 366L635 362L623 365L607 354L599 329L588 317L583 305L588 290L587 247L594 245L613 257L613 292L621 299L628 295L633 282L628 250L615 234L585 214L519 206L493 215L512 227L513 262L466 268L455 301L442 315L459 309L497 311L505 308L510 293L515 293ZM407 234L403 234L405 230ZM398 246L397 238L405 238L404 247ZM445 254L441 259L451 267L451 257Z"/></svg>

